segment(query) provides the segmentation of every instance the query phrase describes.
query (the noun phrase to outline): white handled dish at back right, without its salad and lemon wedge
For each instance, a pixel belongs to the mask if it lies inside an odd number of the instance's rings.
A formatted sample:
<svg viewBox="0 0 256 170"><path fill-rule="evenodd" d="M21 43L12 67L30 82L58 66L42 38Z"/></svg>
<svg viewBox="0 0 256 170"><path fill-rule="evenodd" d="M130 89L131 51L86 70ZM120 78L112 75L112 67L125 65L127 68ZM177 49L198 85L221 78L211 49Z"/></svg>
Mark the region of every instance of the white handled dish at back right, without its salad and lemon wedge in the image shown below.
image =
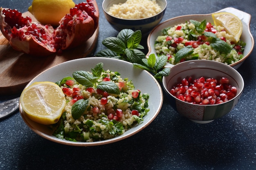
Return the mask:
<svg viewBox="0 0 256 170"><path fill-rule="evenodd" d="M222 9L215 13L219 13L219 12L233 13L243 23L243 32L242 32L240 39L246 43L244 57L241 60L239 60L238 62L235 62L234 64L230 64L231 67L237 69L241 64L243 64L243 62L247 59L247 57L249 57L249 55L252 53L252 50L254 48L254 38L250 31L251 15L248 13L245 13L243 11L240 11L238 9L231 8L231 7ZM161 35L163 29L165 29L169 26L175 26L177 24L185 23L186 21L189 21L189 20L197 20L197 21L207 20L208 22L213 23L211 13L210 14L183 15L183 16L171 18L169 20L162 22L161 24L156 26L148 35L148 39L147 39L148 54L146 55L146 57L148 57L151 53L154 53L157 56L157 54L155 52L155 48L154 48L154 43L155 43L155 40L157 39L157 37L159 35ZM166 67L172 67L172 66L173 66L173 64L166 63Z"/></svg>

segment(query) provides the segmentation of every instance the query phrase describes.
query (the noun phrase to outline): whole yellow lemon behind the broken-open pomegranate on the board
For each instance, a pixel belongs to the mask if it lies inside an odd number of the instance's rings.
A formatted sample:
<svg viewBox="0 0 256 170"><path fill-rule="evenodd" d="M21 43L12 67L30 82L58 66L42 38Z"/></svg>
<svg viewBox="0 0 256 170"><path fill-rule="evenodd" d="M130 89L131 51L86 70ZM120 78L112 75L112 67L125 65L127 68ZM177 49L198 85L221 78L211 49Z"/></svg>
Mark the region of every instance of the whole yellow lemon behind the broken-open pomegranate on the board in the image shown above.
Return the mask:
<svg viewBox="0 0 256 170"><path fill-rule="evenodd" d="M72 0L33 0L28 11L34 15L41 24L58 26L59 21L73 8Z"/></svg>

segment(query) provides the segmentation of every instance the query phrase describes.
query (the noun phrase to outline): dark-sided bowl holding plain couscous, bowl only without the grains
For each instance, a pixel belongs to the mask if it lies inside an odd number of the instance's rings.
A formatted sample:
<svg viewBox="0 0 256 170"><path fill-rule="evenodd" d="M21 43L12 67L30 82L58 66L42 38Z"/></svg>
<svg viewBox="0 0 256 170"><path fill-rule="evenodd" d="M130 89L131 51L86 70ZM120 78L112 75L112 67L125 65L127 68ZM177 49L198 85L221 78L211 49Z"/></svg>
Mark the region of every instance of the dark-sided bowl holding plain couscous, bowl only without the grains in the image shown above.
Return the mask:
<svg viewBox="0 0 256 170"><path fill-rule="evenodd" d="M157 26L157 24L159 24L164 16L167 6L166 0L156 0L162 11L152 17L143 19L121 19L108 14L109 8L113 4L124 2L126 2L126 0L103 0L102 9L106 19L117 31L121 31L122 29L132 29L133 31L141 30L142 34L149 33L155 26Z"/></svg>

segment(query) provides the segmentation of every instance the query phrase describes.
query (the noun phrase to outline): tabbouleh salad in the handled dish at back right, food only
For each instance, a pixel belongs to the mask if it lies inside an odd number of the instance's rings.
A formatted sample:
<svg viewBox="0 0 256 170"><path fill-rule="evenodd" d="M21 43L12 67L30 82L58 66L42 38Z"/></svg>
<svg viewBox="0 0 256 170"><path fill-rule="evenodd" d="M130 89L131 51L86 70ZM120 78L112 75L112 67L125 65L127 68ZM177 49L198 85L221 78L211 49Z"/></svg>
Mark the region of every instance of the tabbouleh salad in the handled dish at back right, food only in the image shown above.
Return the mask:
<svg viewBox="0 0 256 170"><path fill-rule="evenodd" d="M245 43L234 43L224 27L214 26L203 20L168 27L155 40L158 56L168 56L168 62L175 65L186 60L214 60L233 64L243 58Z"/></svg>

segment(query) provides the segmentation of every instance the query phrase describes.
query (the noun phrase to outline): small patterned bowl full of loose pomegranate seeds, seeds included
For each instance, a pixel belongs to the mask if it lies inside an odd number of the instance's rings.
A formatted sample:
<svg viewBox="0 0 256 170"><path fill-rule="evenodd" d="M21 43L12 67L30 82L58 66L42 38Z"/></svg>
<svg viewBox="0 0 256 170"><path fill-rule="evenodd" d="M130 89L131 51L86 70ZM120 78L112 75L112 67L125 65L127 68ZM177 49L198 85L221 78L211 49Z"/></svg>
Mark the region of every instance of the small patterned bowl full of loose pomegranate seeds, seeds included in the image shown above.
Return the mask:
<svg viewBox="0 0 256 170"><path fill-rule="evenodd" d="M162 82L173 109L200 124L227 115L244 89L243 77L238 71L211 60L176 64Z"/></svg>

